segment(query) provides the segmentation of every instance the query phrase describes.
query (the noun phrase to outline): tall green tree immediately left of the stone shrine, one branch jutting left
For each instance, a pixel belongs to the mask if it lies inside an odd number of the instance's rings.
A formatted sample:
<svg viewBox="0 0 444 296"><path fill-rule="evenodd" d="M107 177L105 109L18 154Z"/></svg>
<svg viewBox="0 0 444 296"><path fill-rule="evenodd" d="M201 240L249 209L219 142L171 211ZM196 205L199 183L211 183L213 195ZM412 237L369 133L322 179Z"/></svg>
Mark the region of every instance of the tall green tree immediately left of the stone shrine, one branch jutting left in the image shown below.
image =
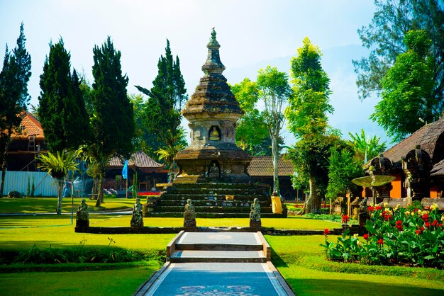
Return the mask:
<svg viewBox="0 0 444 296"><path fill-rule="evenodd" d="M157 62L157 76L152 81L152 89L135 86L140 92L148 96L145 105L146 126L149 135L146 137L153 141L154 147L174 147L181 140L180 111L187 101L187 89L184 78L180 72L179 57L174 61L167 40L165 57L160 56ZM153 156L152 151L148 155Z"/></svg>

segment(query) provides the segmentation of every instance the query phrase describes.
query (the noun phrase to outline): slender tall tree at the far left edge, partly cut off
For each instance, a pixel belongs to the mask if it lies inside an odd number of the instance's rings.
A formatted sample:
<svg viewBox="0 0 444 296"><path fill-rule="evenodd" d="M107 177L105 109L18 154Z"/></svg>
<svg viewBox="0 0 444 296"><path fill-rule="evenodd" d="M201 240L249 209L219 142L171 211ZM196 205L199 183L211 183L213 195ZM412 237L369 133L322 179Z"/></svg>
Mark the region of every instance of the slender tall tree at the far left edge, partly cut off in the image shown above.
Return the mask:
<svg viewBox="0 0 444 296"><path fill-rule="evenodd" d="M3 67L0 72L0 198L3 197L4 179L6 176L7 153L11 135L23 118L29 101L28 81L30 78L30 55L25 48L23 23L13 54L6 45Z"/></svg>

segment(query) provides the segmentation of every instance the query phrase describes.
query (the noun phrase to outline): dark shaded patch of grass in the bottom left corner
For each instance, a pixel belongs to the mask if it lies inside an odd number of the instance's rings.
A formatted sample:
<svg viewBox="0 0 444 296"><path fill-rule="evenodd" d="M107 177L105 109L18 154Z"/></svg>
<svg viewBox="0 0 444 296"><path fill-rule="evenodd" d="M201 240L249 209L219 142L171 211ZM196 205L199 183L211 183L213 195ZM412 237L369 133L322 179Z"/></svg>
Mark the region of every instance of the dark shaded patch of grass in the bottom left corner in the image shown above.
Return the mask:
<svg viewBox="0 0 444 296"><path fill-rule="evenodd" d="M153 267L113 271L0 274L1 295L133 295Z"/></svg>

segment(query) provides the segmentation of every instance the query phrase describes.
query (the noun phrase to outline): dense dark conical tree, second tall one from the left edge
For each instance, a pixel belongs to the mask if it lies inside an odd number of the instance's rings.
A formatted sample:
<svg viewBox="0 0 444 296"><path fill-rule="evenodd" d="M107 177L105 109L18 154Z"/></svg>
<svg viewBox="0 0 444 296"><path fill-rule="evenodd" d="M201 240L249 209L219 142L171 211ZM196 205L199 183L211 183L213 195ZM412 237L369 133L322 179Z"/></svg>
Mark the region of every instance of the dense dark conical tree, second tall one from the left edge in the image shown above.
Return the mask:
<svg viewBox="0 0 444 296"><path fill-rule="evenodd" d="M40 75L38 114L48 149L55 153L76 150L89 140L89 115L79 88L77 72L71 74L70 53L63 40L50 45Z"/></svg>

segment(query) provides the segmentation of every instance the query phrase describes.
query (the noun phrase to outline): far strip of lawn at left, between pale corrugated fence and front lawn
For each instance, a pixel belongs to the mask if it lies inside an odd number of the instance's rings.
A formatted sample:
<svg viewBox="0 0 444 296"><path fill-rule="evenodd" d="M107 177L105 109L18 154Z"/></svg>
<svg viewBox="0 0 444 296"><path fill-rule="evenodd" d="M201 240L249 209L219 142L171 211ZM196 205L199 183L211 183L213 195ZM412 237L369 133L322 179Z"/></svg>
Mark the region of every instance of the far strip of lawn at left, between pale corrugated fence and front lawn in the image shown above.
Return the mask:
<svg viewBox="0 0 444 296"><path fill-rule="evenodd" d="M79 207L82 198L74 198L74 213ZM131 209L135 203L132 198L109 198L97 209L96 200L89 200L87 204L89 212L113 211ZM62 212L70 213L72 209L72 198L64 198ZM33 212L55 212L57 210L57 198L0 198L0 213L33 213Z"/></svg>

